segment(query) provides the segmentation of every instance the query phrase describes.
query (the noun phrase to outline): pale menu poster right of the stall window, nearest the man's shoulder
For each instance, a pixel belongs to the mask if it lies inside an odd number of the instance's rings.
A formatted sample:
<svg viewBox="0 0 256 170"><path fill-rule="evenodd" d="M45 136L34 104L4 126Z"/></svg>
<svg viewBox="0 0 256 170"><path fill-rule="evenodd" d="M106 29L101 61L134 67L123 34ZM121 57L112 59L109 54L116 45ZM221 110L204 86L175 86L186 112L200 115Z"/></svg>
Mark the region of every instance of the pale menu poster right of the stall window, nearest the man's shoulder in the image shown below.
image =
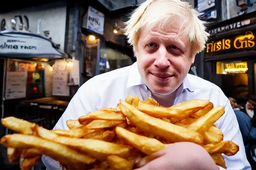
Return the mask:
<svg viewBox="0 0 256 170"><path fill-rule="evenodd" d="M52 95L69 96L67 71L60 71L60 70L54 71Z"/></svg>

